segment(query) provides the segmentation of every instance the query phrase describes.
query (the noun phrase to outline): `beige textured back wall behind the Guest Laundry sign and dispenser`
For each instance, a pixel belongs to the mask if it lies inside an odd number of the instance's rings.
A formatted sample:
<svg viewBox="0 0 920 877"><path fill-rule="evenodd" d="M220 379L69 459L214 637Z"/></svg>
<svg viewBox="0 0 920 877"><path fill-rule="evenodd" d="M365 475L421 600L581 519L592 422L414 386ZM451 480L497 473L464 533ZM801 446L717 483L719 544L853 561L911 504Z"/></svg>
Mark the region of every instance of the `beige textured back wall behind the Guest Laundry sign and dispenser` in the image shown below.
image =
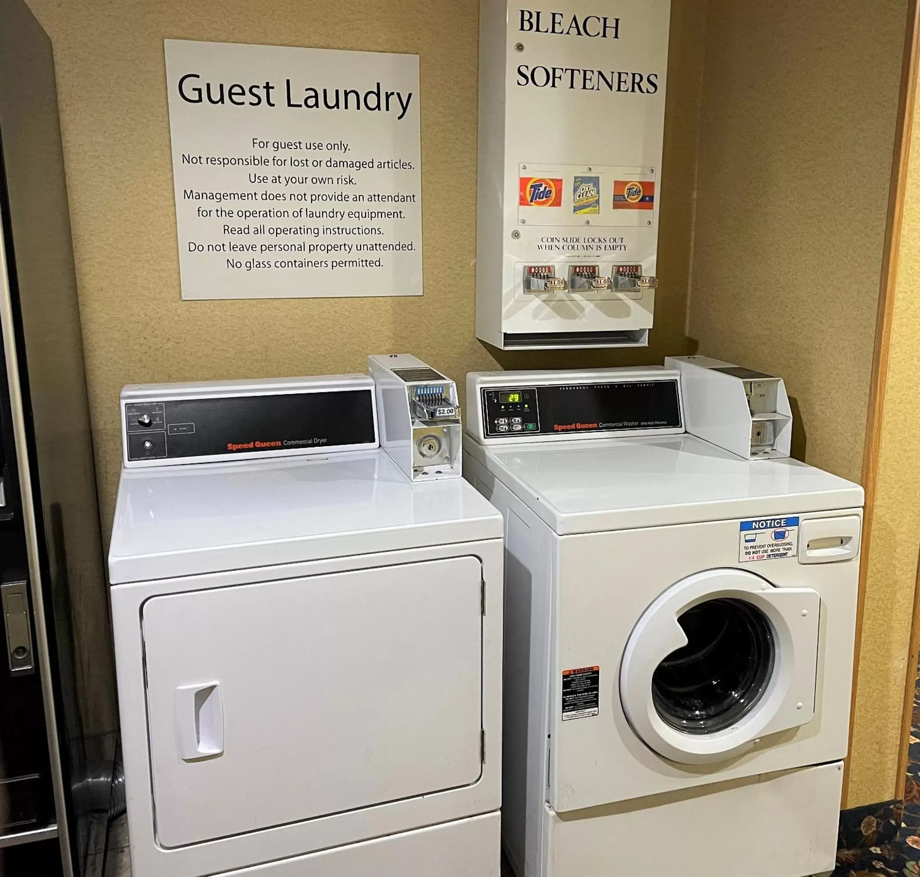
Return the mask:
<svg viewBox="0 0 920 877"><path fill-rule="evenodd" d="M55 52L107 531L120 468L124 384L363 371L369 352L414 352L458 383L467 371L494 367L473 329L477 0L29 0L29 6ZM501 354L502 362L643 362L684 352L704 6L705 0L673 4L662 284L652 350ZM421 298L180 299L167 37L420 55ZM458 181L466 183L466 194L457 194Z"/></svg>

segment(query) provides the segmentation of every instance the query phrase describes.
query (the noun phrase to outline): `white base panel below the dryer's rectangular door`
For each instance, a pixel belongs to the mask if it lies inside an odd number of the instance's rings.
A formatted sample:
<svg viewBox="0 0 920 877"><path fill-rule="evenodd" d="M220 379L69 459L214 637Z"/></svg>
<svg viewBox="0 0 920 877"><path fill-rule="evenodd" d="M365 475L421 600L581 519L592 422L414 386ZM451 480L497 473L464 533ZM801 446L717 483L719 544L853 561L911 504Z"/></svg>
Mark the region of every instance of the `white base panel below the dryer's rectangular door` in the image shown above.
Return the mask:
<svg viewBox="0 0 920 877"><path fill-rule="evenodd" d="M499 877L500 815L432 825L224 877Z"/></svg>

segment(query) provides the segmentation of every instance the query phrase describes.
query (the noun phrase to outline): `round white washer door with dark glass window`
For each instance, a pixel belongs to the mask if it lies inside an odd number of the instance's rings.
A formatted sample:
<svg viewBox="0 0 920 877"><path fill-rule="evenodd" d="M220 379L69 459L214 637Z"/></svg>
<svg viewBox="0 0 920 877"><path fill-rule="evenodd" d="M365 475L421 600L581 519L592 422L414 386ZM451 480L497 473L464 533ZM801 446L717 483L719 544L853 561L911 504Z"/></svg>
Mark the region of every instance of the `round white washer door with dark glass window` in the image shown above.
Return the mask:
<svg viewBox="0 0 920 877"><path fill-rule="evenodd" d="M683 764L723 761L814 715L821 597L708 570L643 613L620 666L633 731Z"/></svg>

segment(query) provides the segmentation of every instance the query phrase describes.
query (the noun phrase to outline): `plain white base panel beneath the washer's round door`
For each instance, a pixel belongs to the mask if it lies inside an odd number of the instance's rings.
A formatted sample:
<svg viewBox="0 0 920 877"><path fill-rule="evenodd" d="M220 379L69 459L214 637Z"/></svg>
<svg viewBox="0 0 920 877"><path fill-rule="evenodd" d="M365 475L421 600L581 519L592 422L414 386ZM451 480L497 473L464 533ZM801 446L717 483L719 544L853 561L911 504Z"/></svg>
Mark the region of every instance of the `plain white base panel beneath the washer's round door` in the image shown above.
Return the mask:
<svg viewBox="0 0 920 877"><path fill-rule="evenodd" d="M545 808L546 870L520 877L806 877L832 871L843 763L576 811Z"/></svg>

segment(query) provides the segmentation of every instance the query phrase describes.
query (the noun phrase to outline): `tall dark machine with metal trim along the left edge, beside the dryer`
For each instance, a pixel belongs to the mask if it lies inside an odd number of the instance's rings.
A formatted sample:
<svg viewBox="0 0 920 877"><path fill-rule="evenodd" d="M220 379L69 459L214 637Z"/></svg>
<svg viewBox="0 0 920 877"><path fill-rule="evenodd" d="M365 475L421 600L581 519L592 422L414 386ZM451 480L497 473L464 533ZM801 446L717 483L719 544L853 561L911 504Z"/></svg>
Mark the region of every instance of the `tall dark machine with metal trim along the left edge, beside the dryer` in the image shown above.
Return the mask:
<svg viewBox="0 0 920 877"><path fill-rule="evenodd" d="M118 727L52 47L22 0L0 4L0 219L0 874L71 877Z"/></svg>

